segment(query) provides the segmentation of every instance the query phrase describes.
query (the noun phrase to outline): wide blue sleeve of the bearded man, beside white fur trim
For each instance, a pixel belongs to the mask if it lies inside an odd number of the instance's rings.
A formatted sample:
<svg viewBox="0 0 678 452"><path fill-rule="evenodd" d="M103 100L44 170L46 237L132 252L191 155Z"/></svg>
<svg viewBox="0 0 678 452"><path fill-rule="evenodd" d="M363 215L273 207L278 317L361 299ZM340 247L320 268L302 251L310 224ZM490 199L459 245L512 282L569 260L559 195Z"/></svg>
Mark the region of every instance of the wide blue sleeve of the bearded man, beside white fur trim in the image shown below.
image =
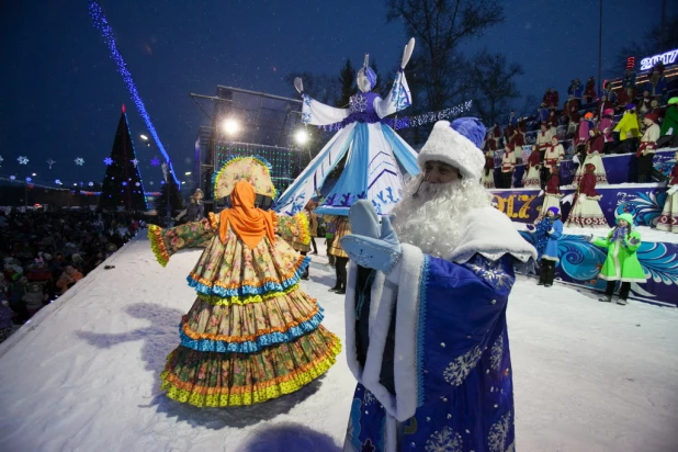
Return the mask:
<svg viewBox="0 0 678 452"><path fill-rule="evenodd" d="M455 377L445 372L451 361L475 366L506 329L506 307L516 280L512 263L510 255L495 261L476 255L464 264L426 258L418 340L426 393L450 386Z"/></svg>

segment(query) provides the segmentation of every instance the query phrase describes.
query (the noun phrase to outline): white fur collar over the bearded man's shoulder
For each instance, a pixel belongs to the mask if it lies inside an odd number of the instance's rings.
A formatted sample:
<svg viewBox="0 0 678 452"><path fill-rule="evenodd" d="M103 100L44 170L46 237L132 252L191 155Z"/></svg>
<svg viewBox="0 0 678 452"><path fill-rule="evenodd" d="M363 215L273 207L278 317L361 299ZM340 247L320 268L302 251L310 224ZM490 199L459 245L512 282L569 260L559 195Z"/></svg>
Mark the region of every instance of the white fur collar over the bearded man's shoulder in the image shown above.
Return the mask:
<svg viewBox="0 0 678 452"><path fill-rule="evenodd" d="M521 262L536 259L536 249L513 227L504 213L494 207L473 208L461 222L465 225L460 236L460 246L445 257L456 263L464 263L475 253L496 260L509 253Z"/></svg>

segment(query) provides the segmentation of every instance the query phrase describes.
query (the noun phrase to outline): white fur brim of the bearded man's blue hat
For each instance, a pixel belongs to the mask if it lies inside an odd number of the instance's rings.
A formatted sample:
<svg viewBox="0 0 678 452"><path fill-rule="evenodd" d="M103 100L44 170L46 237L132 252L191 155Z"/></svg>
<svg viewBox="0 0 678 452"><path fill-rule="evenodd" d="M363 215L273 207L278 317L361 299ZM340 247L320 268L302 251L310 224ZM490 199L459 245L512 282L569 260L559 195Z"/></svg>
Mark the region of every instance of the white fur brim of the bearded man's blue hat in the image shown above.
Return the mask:
<svg viewBox="0 0 678 452"><path fill-rule="evenodd" d="M417 157L420 167L430 160L451 165L457 168L464 178L476 181L481 179L485 167L483 151L472 140L450 127L448 121L436 123Z"/></svg>

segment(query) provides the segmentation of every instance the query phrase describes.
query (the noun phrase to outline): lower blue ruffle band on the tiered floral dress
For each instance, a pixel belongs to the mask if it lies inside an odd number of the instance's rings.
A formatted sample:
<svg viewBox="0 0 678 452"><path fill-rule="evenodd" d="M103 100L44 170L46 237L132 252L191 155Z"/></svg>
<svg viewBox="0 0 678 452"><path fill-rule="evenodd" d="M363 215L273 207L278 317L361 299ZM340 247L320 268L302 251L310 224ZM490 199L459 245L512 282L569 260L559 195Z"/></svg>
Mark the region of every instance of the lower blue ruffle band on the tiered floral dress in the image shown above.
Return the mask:
<svg viewBox="0 0 678 452"><path fill-rule="evenodd" d="M181 344L197 351L216 351L221 353L253 353L261 350L264 347L272 346L274 343L290 342L306 332L315 331L325 314L321 306L318 305L318 313L306 321L302 321L300 325L290 328L286 332L269 332L257 338L256 341L246 342L225 342L223 340L212 339L191 339L183 332L181 325L179 326L179 336L181 338Z"/></svg>

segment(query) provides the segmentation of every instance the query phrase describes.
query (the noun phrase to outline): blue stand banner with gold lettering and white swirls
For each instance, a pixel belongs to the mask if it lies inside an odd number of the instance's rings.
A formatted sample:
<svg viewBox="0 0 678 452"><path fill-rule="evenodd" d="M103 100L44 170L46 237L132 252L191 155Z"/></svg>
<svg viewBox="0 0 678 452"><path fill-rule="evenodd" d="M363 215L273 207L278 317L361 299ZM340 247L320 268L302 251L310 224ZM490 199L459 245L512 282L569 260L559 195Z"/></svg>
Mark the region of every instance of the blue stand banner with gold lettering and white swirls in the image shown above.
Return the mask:
<svg viewBox="0 0 678 452"><path fill-rule="evenodd" d="M666 185L658 183L610 188L601 185L596 187L596 191L602 194L600 208L609 225L613 225L620 214L630 213L634 216L636 225L656 226L667 196ZM489 190L489 192L497 208L518 223L533 223L544 202L544 196L539 196L539 189ZM567 195L575 193L575 190L562 189L562 192ZM567 219L570 208L572 204L561 204L563 218Z"/></svg>

